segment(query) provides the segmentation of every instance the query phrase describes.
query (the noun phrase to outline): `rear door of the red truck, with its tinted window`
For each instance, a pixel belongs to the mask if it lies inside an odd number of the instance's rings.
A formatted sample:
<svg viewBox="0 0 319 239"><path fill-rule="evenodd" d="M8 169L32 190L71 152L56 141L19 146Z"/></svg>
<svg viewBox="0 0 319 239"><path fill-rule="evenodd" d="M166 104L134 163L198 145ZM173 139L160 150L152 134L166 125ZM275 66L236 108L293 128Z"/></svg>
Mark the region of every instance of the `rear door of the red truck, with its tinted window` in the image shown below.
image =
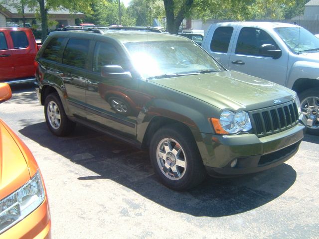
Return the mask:
<svg viewBox="0 0 319 239"><path fill-rule="evenodd" d="M10 31L13 49L14 78L34 78L34 57L36 54L35 42L29 42L33 39L29 34L22 30Z"/></svg>

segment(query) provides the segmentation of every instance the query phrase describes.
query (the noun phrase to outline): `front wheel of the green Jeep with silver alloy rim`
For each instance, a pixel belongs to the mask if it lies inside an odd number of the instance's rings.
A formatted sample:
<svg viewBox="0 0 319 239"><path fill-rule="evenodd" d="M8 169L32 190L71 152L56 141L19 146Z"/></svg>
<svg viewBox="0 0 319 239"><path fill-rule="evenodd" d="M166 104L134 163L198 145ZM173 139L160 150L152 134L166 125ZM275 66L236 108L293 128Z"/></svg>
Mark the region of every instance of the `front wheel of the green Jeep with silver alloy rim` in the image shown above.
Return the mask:
<svg viewBox="0 0 319 239"><path fill-rule="evenodd" d="M150 158L160 182L173 190L192 188L206 176L197 145L182 127L160 128L152 138Z"/></svg>

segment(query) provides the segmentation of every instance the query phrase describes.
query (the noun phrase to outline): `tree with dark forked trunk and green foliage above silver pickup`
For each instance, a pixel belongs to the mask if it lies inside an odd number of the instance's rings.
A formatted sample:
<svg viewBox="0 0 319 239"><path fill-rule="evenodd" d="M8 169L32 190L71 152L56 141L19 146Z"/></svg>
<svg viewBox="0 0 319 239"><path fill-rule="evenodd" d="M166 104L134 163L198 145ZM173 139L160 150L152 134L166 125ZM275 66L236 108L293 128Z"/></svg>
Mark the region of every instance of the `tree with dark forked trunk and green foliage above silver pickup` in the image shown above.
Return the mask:
<svg viewBox="0 0 319 239"><path fill-rule="evenodd" d="M300 12L305 1L307 0L163 0L163 3L166 29L170 33L177 33L180 23L187 16L202 20L282 19Z"/></svg>

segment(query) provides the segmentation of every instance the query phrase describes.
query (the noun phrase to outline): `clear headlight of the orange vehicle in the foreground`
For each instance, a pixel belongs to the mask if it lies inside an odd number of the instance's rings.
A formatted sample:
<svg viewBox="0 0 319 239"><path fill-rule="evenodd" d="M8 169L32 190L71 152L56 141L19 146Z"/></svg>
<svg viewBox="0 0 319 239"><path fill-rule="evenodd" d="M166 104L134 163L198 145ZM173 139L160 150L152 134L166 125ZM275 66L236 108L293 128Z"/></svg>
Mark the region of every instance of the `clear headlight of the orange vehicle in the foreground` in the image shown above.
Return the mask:
<svg viewBox="0 0 319 239"><path fill-rule="evenodd" d="M0 234L21 221L44 200L39 171L20 189L0 201Z"/></svg>

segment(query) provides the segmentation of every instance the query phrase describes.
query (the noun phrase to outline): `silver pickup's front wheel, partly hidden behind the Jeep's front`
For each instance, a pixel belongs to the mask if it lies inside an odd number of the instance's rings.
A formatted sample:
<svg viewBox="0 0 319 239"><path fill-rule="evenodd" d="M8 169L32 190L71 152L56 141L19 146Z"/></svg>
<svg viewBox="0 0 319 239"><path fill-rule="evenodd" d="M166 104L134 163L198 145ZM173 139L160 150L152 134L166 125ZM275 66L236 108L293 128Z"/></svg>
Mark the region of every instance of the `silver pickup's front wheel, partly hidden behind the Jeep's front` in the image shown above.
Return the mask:
<svg viewBox="0 0 319 239"><path fill-rule="evenodd" d="M319 88L303 91L299 98L301 111L307 117L307 133L319 135Z"/></svg>

